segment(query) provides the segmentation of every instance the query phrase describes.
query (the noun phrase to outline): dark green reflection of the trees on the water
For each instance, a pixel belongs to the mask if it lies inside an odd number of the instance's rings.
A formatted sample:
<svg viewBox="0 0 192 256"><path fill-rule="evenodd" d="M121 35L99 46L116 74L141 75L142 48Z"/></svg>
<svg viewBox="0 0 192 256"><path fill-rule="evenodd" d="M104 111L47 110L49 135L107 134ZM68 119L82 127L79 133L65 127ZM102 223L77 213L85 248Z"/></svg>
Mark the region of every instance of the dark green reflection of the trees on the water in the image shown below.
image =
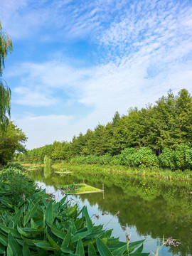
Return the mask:
<svg viewBox="0 0 192 256"><path fill-rule="evenodd" d="M32 172L31 172L32 173ZM87 199L90 206L98 205L100 211L115 215L120 211L121 225L135 226L139 235L151 235L152 238L172 236L181 239L179 247L171 247L178 255L192 254L192 201L190 183L161 181L154 178L134 177L118 174L109 176L70 175L58 176L52 170L50 176L44 176L42 170L33 172L33 178L46 185L85 183L102 188L105 183L105 199L102 193L79 195L82 202Z"/></svg>

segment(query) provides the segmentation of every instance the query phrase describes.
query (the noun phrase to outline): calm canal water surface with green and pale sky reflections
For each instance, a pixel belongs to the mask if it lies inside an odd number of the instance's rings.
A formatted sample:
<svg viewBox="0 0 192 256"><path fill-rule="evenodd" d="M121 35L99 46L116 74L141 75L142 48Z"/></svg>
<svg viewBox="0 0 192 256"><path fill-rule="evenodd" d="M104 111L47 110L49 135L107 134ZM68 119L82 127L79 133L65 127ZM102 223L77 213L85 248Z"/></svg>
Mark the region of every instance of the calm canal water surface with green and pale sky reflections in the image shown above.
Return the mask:
<svg viewBox="0 0 192 256"><path fill-rule="evenodd" d="M83 174L54 174L54 170L30 171L38 186L54 193L56 200L63 198L55 185L82 183L102 188L105 193L90 193L68 196L71 204L87 206L90 216L100 215L92 220L113 228L114 237L125 241L122 225L131 235L131 242L146 239L144 252L153 255L162 245L162 238L179 239L178 247L161 247L159 255L192 255L192 184L178 181L163 181L156 178L136 176L85 176ZM115 214L120 212L118 216ZM109 213L102 215L103 212Z"/></svg>

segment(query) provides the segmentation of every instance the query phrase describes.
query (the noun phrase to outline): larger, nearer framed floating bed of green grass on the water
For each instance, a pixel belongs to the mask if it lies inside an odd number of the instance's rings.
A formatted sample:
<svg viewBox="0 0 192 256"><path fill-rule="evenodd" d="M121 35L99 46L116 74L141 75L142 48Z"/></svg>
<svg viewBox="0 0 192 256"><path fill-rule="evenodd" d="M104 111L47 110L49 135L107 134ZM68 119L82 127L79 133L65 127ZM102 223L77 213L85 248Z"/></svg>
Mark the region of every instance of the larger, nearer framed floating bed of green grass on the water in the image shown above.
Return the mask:
<svg viewBox="0 0 192 256"><path fill-rule="evenodd" d="M74 186L74 187L73 187ZM104 189L95 188L85 183L69 184L69 185L58 185L55 186L66 195L80 195L85 193L102 193Z"/></svg>

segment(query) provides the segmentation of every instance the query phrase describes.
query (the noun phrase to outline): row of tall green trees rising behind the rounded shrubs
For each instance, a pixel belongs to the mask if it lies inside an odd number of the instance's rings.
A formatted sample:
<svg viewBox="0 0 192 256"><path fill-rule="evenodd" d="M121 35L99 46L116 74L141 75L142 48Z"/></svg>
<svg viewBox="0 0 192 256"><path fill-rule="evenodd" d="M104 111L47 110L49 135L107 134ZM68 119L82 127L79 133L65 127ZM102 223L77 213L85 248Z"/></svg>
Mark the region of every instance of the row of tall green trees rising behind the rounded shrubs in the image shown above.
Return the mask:
<svg viewBox="0 0 192 256"><path fill-rule="evenodd" d="M121 154L124 149L149 147L160 155L180 144L192 143L192 97L186 89L178 95L169 91L141 110L131 108L127 115L116 112L112 122L98 124L95 130L87 130L73 137L72 142L54 142L18 156L26 162L43 162L44 156L53 161L68 160L76 156L102 156Z"/></svg>

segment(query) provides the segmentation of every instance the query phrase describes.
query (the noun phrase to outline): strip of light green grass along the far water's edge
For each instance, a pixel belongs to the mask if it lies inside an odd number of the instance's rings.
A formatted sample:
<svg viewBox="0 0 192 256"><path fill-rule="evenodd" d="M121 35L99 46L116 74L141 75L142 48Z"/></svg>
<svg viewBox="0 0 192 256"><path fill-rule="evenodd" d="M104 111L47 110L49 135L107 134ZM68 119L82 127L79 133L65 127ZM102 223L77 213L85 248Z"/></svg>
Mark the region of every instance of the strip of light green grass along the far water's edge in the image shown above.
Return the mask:
<svg viewBox="0 0 192 256"><path fill-rule="evenodd" d="M121 165L99 165L99 164L53 164L54 168L67 169L68 171L81 171L85 174L127 174L138 176L151 176L165 179L175 179L178 181L192 181L191 171L171 171L169 169L136 168Z"/></svg>

